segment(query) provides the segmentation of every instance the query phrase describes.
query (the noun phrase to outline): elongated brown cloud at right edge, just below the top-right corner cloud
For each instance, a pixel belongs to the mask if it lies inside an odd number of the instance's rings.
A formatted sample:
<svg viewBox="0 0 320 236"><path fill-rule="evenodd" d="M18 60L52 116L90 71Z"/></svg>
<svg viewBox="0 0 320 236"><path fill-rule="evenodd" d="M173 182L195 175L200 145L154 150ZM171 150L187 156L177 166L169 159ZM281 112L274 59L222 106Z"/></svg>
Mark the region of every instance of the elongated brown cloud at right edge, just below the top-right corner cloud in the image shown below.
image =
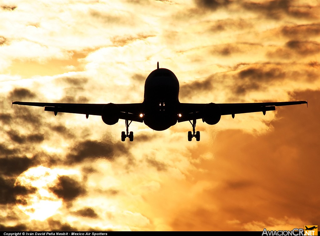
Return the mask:
<svg viewBox="0 0 320 236"><path fill-rule="evenodd" d="M320 24L284 26L281 33L294 39L308 39L312 36L320 35Z"/></svg>

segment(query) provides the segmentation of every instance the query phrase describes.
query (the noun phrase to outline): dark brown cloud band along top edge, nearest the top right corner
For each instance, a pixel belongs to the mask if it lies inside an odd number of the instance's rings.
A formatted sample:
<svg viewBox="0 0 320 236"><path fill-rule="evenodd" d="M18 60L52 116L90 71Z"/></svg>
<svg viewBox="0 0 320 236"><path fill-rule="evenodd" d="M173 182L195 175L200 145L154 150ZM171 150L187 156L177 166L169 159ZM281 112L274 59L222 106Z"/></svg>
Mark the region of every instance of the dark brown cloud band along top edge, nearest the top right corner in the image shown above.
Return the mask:
<svg viewBox="0 0 320 236"><path fill-rule="evenodd" d="M313 6L293 5L292 2L291 0L244 2L243 7L272 19L281 19L284 15L295 18L318 18Z"/></svg>

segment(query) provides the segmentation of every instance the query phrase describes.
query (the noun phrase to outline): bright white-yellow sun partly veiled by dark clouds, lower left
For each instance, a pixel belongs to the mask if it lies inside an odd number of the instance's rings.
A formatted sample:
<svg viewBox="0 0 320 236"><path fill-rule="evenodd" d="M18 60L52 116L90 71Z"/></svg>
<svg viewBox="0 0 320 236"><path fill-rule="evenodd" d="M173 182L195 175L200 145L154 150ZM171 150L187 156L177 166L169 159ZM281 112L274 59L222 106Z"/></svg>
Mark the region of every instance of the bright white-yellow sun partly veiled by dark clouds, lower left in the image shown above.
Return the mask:
<svg viewBox="0 0 320 236"><path fill-rule="evenodd" d="M50 168L38 166L24 171L14 183L21 192L15 196L18 208L35 220L54 215L62 200L50 188L58 183L58 175Z"/></svg>

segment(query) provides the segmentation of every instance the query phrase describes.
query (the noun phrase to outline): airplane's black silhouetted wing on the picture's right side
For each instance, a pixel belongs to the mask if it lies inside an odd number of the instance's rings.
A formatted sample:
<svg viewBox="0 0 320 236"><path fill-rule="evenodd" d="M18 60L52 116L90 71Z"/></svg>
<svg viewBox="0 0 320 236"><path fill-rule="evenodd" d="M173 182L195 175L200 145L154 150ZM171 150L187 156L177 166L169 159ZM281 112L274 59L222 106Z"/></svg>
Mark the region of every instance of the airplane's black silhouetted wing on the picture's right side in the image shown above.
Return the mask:
<svg viewBox="0 0 320 236"><path fill-rule="evenodd" d="M259 102L259 103L180 103L181 117L178 122L191 121L196 119L204 119L205 114L210 114L208 109L215 109L214 112L218 113L220 110L221 115L232 115L251 112L263 112L276 110L276 106L288 106L307 104L307 101L292 101L292 102ZM214 106L213 106L214 105ZM218 106L216 106L218 105ZM219 108L218 108L219 107ZM217 110L218 109L218 110Z"/></svg>

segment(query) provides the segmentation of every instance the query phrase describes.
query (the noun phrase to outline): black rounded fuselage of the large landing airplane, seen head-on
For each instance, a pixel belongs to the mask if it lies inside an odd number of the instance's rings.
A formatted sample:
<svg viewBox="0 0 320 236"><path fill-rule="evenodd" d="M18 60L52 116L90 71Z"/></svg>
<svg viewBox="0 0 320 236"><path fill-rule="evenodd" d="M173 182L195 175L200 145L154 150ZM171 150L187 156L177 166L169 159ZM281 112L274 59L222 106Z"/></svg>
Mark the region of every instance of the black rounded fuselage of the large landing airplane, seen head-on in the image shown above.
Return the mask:
<svg viewBox="0 0 320 236"><path fill-rule="evenodd" d="M166 130L177 123L179 81L171 70L150 73L144 86L144 123L153 130Z"/></svg>

